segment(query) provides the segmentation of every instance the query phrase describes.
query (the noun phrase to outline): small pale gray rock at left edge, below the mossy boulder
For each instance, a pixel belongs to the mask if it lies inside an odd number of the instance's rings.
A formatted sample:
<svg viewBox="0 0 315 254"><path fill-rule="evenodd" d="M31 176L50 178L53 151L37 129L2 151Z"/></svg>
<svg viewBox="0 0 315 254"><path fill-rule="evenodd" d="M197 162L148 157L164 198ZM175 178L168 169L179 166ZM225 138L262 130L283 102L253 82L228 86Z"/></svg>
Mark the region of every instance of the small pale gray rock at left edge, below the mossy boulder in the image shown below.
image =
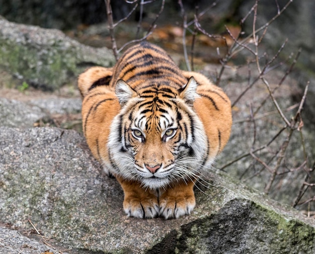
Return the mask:
<svg viewBox="0 0 315 254"><path fill-rule="evenodd" d="M37 106L0 97L0 126L29 128L44 116Z"/></svg>

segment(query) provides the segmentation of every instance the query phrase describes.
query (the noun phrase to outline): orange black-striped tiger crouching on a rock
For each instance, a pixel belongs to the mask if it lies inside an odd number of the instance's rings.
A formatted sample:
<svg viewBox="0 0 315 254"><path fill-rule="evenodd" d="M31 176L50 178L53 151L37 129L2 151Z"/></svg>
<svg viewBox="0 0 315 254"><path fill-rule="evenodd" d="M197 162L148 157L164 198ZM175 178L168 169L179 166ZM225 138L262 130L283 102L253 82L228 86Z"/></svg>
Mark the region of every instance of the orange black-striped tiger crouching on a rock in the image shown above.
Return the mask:
<svg viewBox="0 0 315 254"><path fill-rule="evenodd" d="M130 217L191 214L194 186L230 135L227 95L206 76L181 70L143 41L117 63L78 76L83 133L104 171L124 193Z"/></svg>

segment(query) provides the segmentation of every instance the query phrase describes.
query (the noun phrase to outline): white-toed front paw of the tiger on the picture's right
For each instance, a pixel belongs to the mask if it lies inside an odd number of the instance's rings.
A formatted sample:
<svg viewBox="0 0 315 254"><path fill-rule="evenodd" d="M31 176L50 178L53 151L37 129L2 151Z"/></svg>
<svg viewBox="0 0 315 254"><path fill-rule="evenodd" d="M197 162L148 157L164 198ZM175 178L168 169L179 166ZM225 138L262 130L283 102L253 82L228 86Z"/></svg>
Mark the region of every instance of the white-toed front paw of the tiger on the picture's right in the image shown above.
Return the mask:
<svg viewBox="0 0 315 254"><path fill-rule="evenodd" d="M160 198L160 216L165 219L178 218L190 214L196 205L195 196L162 196Z"/></svg>

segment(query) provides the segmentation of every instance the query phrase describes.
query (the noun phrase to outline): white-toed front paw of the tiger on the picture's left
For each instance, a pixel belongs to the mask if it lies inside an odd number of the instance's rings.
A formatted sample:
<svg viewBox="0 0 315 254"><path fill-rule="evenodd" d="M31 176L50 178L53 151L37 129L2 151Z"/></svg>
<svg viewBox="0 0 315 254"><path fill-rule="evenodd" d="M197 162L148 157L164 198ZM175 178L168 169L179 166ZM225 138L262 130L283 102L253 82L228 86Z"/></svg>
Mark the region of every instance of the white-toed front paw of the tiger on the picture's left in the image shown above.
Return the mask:
<svg viewBox="0 0 315 254"><path fill-rule="evenodd" d="M159 216L159 203L152 197L127 197L123 203L126 214L136 218L155 218Z"/></svg>

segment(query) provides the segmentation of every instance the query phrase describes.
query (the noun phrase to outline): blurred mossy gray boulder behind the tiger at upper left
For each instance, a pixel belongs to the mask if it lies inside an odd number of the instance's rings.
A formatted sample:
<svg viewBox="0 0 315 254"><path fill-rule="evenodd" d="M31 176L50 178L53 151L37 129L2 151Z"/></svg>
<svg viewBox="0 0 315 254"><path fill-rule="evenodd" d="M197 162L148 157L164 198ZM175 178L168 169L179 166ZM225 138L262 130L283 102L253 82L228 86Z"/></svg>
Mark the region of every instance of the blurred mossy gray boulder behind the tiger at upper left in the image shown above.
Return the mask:
<svg viewBox="0 0 315 254"><path fill-rule="evenodd" d="M5 19L0 19L0 27L0 66L35 87L55 90L88 66L115 62L107 48L82 45L58 30Z"/></svg>

